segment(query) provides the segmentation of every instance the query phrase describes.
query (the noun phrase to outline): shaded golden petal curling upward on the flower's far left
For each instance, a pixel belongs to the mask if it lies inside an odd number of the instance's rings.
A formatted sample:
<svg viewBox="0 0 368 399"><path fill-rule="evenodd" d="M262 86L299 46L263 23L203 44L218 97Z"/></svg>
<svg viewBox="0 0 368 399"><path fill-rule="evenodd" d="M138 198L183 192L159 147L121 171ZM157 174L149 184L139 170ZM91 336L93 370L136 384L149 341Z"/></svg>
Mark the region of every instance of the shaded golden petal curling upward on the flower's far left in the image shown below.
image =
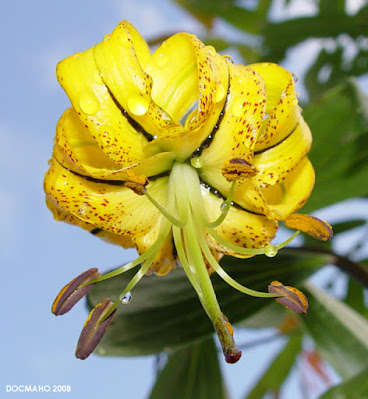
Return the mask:
<svg viewBox="0 0 368 399"><path fill-rule="evenodd" d="M54 156L74 172L97 179L125 180L131 173L149 177L169 170L175 154L159 153L122 167L103 152L76 111L69 108L57 125Z"/></svg>

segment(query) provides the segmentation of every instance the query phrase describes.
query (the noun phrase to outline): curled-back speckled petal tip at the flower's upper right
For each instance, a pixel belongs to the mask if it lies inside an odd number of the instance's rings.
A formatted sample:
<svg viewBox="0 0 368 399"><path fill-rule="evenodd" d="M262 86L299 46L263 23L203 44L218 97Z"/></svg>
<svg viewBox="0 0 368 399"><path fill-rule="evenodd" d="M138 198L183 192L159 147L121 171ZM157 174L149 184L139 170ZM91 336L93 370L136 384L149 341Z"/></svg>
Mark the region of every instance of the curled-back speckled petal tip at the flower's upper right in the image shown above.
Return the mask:
<svg viewBox="0 0 368 399"><path fill-rule="evenodd" d="M277 64L251 64L266 85L266 114L259 132L255 151L269 148L287 137L298 122L300 108L295 92L294 77Z"/></svg>

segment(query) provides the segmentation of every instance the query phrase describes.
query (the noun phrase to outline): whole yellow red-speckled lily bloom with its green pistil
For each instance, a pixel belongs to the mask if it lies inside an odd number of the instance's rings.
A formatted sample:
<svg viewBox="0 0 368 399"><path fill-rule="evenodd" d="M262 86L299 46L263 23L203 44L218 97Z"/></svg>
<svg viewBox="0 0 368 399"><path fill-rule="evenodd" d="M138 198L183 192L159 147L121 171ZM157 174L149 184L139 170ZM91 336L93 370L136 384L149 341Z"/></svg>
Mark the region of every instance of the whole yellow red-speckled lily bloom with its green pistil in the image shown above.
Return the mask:
<svg viewBox="0 0 368 399"><path fill-rule="evenodd" d="M218 260L274 256L290 241L270 244L278 221L311 193L312 137L293 75L271 63L234 65L187 33L151 54L123 21L101 43L61 61L57 77L72 107L57 125L47 205L55 219L140 254L92 280L141 264L99 323L143 275L181 265L226 360L237 361L241 352L209 275L251 295L283 295L241 286Z"/></svg>

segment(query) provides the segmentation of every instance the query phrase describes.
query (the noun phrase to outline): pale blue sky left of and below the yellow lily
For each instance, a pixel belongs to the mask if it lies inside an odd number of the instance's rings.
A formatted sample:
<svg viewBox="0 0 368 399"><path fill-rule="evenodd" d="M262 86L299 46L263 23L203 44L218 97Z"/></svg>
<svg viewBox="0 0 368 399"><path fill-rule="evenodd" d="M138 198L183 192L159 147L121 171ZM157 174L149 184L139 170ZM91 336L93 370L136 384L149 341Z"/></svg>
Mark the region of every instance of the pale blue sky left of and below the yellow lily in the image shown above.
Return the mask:
<svg viewBox="0 0 368 399"><path fill-rule="evenodd" d="M55 66L102 40L122 19L146 38L181 30L199 34L201 27L169 0L4 0L1 11L0 397L6 385L57 384L70 385L72 392L54 396L144 398L153 382L152 357L77 360L74 348L87 317L84 305L62 318L50 312L56 293L73 276L89 267L105 271L135 256L55 222L44 204L42 181L56 122L69 106ZM229 34L224 24L218 29ZM240 335L239 341L251 337ZM268 345L263 352L246 354L238 365L224 366L235 398L277 347Z"/></svg>

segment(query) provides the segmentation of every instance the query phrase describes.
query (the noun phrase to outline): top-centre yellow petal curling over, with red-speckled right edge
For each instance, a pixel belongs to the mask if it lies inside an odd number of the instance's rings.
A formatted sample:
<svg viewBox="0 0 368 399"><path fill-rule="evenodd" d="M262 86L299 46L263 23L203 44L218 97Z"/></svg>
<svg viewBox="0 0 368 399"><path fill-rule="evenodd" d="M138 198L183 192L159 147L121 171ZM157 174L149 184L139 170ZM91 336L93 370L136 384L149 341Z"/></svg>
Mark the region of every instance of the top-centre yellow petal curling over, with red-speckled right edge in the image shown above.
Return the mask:
<svg viewBox="0 0 368 399"><path fill-rule="evenodd" d="M163 60L168 63L158 66ZM145 70L153 77L155 101L175 121L187 115L183 132L167 131L149 147L174 151L185 160L216 130L228 89L227 64L196 36L179 33L156 50ZM193 105L196 108L188 115Z"/></svg>

